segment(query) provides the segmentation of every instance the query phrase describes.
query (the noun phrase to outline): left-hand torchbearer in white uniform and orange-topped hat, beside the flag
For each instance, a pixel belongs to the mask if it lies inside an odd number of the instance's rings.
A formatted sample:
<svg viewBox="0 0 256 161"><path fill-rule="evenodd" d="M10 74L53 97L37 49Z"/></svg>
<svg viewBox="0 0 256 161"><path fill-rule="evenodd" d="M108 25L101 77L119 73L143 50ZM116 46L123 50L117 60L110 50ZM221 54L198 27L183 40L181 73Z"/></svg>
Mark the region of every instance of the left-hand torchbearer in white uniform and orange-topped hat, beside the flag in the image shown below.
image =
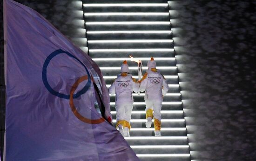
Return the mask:
<svg viewBox="0 0 256 161"><path fill-rule="evenodd" d="M137 80L129 74L129 67L125 60L121 65L121 74L115 78L109 88L109 93L115 94L116 129L123 136L130 136L130 120L134 103L133 91L137 93L139 86Z"/></svg>

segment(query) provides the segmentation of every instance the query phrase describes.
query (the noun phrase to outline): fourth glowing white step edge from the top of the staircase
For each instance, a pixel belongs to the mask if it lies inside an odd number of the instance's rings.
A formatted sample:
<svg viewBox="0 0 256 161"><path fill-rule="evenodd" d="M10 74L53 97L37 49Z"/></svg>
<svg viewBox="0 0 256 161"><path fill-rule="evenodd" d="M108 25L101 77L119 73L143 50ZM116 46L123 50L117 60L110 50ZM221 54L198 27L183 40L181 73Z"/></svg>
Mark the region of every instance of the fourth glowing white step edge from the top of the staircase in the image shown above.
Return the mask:
<svg viewBox="0 0 256 161"><path fill-rule="evenodd" d="M109 33L172 33L171 30L128 30L128 31L88 31L88 34L109 34Z"/></svg>

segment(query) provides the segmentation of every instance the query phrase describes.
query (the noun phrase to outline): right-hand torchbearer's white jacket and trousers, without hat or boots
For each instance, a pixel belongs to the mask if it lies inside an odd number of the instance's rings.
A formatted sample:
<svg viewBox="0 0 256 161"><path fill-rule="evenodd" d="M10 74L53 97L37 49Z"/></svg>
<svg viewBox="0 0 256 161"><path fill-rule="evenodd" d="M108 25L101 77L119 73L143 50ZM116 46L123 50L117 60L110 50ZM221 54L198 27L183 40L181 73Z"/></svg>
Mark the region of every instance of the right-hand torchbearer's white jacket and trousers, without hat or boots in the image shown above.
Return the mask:
<svg viewBox="0 0 256 161"><path fill-rule="evenodd" d="M154 118L161 122L162 97L168 92L168 84L159 70L148 70L142 80L140 91L145 90L146 111L154 110Z"/></svg>

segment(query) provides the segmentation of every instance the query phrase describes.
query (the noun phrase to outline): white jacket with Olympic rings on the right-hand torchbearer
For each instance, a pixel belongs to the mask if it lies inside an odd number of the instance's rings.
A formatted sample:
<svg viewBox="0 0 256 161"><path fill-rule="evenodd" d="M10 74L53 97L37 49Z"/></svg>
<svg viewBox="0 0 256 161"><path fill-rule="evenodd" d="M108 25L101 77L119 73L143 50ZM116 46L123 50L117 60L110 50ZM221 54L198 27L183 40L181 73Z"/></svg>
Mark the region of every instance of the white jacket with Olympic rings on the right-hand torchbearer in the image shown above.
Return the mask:
<svg viewBox="0 0 256 161"><path fill-rule="evenodd" d="M159 70L148 70L141 79L140 91L145 91L145 101L162 101L169 90L166 79Z"/></svg>

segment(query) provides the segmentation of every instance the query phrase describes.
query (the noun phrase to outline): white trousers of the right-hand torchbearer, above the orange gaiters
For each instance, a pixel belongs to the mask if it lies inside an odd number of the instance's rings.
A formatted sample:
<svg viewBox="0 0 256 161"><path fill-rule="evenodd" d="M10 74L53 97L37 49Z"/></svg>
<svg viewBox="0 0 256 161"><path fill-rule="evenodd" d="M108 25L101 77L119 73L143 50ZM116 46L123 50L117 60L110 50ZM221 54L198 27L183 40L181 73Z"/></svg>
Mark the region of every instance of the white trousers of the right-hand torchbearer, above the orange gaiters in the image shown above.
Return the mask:
<svg viewBox="0 0 256 161"><path fill-rule="evenodd" d="M146 104L146 112L147 112L148 109L153 109L154 118L161 121L162 101L148 101L148 100L145 100L145 104Z"/></svg>

